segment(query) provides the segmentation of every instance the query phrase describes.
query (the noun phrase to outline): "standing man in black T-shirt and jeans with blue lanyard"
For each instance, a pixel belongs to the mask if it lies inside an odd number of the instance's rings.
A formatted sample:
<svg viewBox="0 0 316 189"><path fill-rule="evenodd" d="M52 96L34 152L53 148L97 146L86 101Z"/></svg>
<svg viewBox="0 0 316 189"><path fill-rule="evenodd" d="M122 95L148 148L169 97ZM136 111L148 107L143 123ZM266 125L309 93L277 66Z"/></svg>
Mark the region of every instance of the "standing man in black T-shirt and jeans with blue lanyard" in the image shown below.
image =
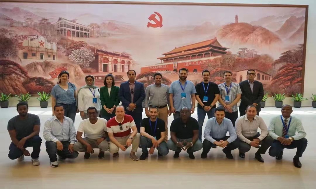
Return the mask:
<svg viewBox="0 0 316 189"><path fill-rule="evenodd" d="M210 71L202 72L203 82L197 83L195 89L195 98L197 99L197 122L199 126L198 138L202 141L202 127L205 115L210 119L214 117L216 102L219 98L220 91L216 83L210 82Z"/></svg>

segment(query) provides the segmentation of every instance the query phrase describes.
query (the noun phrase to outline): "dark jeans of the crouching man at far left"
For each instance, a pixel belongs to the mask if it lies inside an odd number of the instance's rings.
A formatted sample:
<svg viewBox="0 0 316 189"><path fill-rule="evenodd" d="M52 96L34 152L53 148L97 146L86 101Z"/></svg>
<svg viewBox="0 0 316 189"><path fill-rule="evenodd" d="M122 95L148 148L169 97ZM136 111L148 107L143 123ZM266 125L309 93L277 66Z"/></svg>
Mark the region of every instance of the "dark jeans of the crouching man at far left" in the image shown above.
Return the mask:
<svg viewBox="0 0 316 189"><path fill-rule="evenodd" d="M23 147L24 148L33 147L33 152L31 154L31 157L33 159L36 159L36 158L39 158L41 144L42 144L42 139L40 138L39 135L36 135L36 136L33 136L32 138L26 140ZM9 158L10 159L17 159L21 155L23 155L23 152L17 146L15 146L15 144L13 142L11 142L11 144L9 146L9 154L8 154Z"/></svg>

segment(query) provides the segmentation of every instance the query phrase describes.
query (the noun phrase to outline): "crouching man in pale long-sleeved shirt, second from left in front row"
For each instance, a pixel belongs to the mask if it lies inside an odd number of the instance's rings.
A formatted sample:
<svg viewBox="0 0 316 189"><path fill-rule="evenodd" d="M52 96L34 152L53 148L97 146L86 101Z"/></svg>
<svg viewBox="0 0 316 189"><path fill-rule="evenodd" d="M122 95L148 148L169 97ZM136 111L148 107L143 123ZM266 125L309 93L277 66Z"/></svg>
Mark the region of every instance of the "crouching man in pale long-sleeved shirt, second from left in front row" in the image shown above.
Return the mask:
<svg viewBox="0 0 316 189"><path fill-rule="evenodd" d="M74 151L76 142L74 122L64 116L64 106L61 104L54 106L54 113L55 115L45 122L43 136L51 166L58 167L56 153L60 159L72 159L78 156L78 152Z"/></svg>

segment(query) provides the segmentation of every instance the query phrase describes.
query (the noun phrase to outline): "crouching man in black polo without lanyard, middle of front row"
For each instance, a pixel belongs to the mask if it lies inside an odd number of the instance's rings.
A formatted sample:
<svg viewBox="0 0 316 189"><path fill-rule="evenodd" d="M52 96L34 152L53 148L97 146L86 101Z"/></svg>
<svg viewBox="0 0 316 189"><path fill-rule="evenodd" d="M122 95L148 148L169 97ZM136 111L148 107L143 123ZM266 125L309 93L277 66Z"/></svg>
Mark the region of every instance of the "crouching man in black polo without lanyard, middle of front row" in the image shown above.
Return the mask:
<svg viewBox="0 0 316 189"><path fill-rule="evenodd" d="M190 116L189 108L181 108L180 117L172 121L170 131L171 140L167 142L167 146L169 150L175 152L173 157L179 157L182 149L194 159L193 152L202 149L202 141L198 140L198 123Z"/></svg>

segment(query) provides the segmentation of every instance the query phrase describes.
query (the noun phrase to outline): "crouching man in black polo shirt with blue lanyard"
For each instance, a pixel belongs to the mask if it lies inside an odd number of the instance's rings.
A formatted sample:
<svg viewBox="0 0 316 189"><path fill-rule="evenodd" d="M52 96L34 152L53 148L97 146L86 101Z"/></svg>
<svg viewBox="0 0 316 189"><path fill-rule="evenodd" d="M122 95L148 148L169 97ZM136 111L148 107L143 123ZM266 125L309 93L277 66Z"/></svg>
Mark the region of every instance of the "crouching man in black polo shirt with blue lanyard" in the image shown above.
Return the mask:
<svg viewBox="0 0 316 189"><path fill-rule="evenodd" d="M169 152L167 143L165 142L165 122L157 118L158 108L155 106L149 107L149 117L142 120L140 127L140 145L142 146L142 155L140 160L145 160L148 154L153 154L155 148L158 150L158 156L166 156ZM148 148L150 148L148 152Z"/></svg>

